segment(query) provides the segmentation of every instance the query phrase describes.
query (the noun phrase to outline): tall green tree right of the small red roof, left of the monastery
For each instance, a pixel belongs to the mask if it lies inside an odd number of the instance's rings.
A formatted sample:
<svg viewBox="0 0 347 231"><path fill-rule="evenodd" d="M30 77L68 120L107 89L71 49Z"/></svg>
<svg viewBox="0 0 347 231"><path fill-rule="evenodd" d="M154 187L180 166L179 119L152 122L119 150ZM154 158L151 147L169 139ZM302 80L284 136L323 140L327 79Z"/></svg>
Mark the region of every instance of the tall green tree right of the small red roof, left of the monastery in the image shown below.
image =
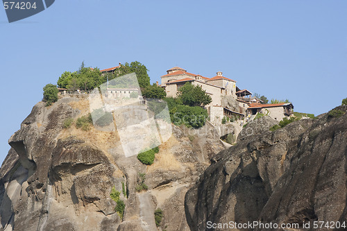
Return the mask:
<svg viewBox="0 0 347 231"><path fill-rule="evenodd" d="M119 76L124 76L126 74L130 74L135 72L137 76L137 81L139 82L139 87L145 88L149 85L150 79L149 74L147 73L149 69L146 68L145 65L143 65L141 62L126 62L124 65L121 65L117 71L115 71L115 74L113 75L113 78L117 78Z"/></svg>

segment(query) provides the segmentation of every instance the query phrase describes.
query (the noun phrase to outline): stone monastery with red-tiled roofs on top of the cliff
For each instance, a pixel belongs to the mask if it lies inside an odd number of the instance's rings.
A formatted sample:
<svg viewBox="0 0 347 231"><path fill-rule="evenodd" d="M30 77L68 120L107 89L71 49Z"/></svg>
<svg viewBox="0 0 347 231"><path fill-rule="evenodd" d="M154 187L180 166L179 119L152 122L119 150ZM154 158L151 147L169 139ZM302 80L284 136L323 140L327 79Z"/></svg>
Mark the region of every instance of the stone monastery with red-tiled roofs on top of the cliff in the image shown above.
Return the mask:
<svg viewBox="0 0 347 231"><path fill-rule="evenodd" d="M161 76L161 85L165 89L167 96L176 97L180 87L185 83L200 86L207 94L211 96L212 102L206 105L211 123L221 123L223 117L237 117L242 119L246 115L262 112L269 114L273 119L281 120L283 117L292 114L293 105L289 104L261 104L262 101L252 97L252 93L247 89L239 89L236 81L223 76L221 71L212 78L192 74L180 67L173 67L167 70L167 74ZM222 98L228 98L229 102ZM230 103L230 101L232 101ZM230 108L230 104L234 105Z"/></svg>

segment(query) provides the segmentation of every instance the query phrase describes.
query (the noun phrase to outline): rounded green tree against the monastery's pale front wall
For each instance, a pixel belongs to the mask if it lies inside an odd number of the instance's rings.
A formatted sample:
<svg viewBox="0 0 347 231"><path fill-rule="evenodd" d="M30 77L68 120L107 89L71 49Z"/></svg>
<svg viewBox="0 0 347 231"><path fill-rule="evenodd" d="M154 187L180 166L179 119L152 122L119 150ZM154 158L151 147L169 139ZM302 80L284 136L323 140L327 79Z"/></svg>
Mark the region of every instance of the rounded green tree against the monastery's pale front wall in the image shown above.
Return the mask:
<svg viewBox="0 0 347 231"><path fill-rule="evenodd" d="M192 83L185 83L183 87L178 90L178 98L184 105L204 106L212 102L211 96L209 96L205 90L200 86L194 86Z"/></svg>

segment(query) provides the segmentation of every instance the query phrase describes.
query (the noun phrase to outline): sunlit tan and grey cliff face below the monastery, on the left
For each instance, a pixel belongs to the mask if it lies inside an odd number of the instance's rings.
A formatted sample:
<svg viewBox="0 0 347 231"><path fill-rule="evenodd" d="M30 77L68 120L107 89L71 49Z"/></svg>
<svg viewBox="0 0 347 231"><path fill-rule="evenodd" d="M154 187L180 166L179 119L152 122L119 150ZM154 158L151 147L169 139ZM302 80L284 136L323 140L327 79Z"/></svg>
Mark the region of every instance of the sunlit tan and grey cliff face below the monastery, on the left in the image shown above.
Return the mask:
<svg viewBox="0 0 347 231"><path fill-rule="evenodd" d="M0 169L0 230L189 230L184 196L224 149L217 132L174 126L146 166L136 156L124 157L114 131L63 128L65 119L88 112L83 97L66 97L49 108L37 103L12 135ZM147 191L135 190L139 173L146 173ZM125 203L122 219L110 198L112 187ZM164 214L158 228L157 208Z"/></svg>

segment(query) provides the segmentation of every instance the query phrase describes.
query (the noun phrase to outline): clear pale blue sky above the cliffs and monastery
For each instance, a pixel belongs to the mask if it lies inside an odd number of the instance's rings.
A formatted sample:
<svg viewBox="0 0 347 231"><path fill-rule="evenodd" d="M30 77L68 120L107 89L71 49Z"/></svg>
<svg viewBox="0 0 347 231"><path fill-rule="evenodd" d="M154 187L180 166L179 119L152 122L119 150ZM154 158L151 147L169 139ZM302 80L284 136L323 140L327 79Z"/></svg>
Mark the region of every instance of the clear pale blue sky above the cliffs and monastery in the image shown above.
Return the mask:
<svg viewBox="0 0 347 231"><path fill-rule="evenodd" d="M58 0L8 24L0 8L0 162L8 139L63 71L139 61L151 82L174 66L298 112L321 114L347 97L347 1Z"/></svg>

